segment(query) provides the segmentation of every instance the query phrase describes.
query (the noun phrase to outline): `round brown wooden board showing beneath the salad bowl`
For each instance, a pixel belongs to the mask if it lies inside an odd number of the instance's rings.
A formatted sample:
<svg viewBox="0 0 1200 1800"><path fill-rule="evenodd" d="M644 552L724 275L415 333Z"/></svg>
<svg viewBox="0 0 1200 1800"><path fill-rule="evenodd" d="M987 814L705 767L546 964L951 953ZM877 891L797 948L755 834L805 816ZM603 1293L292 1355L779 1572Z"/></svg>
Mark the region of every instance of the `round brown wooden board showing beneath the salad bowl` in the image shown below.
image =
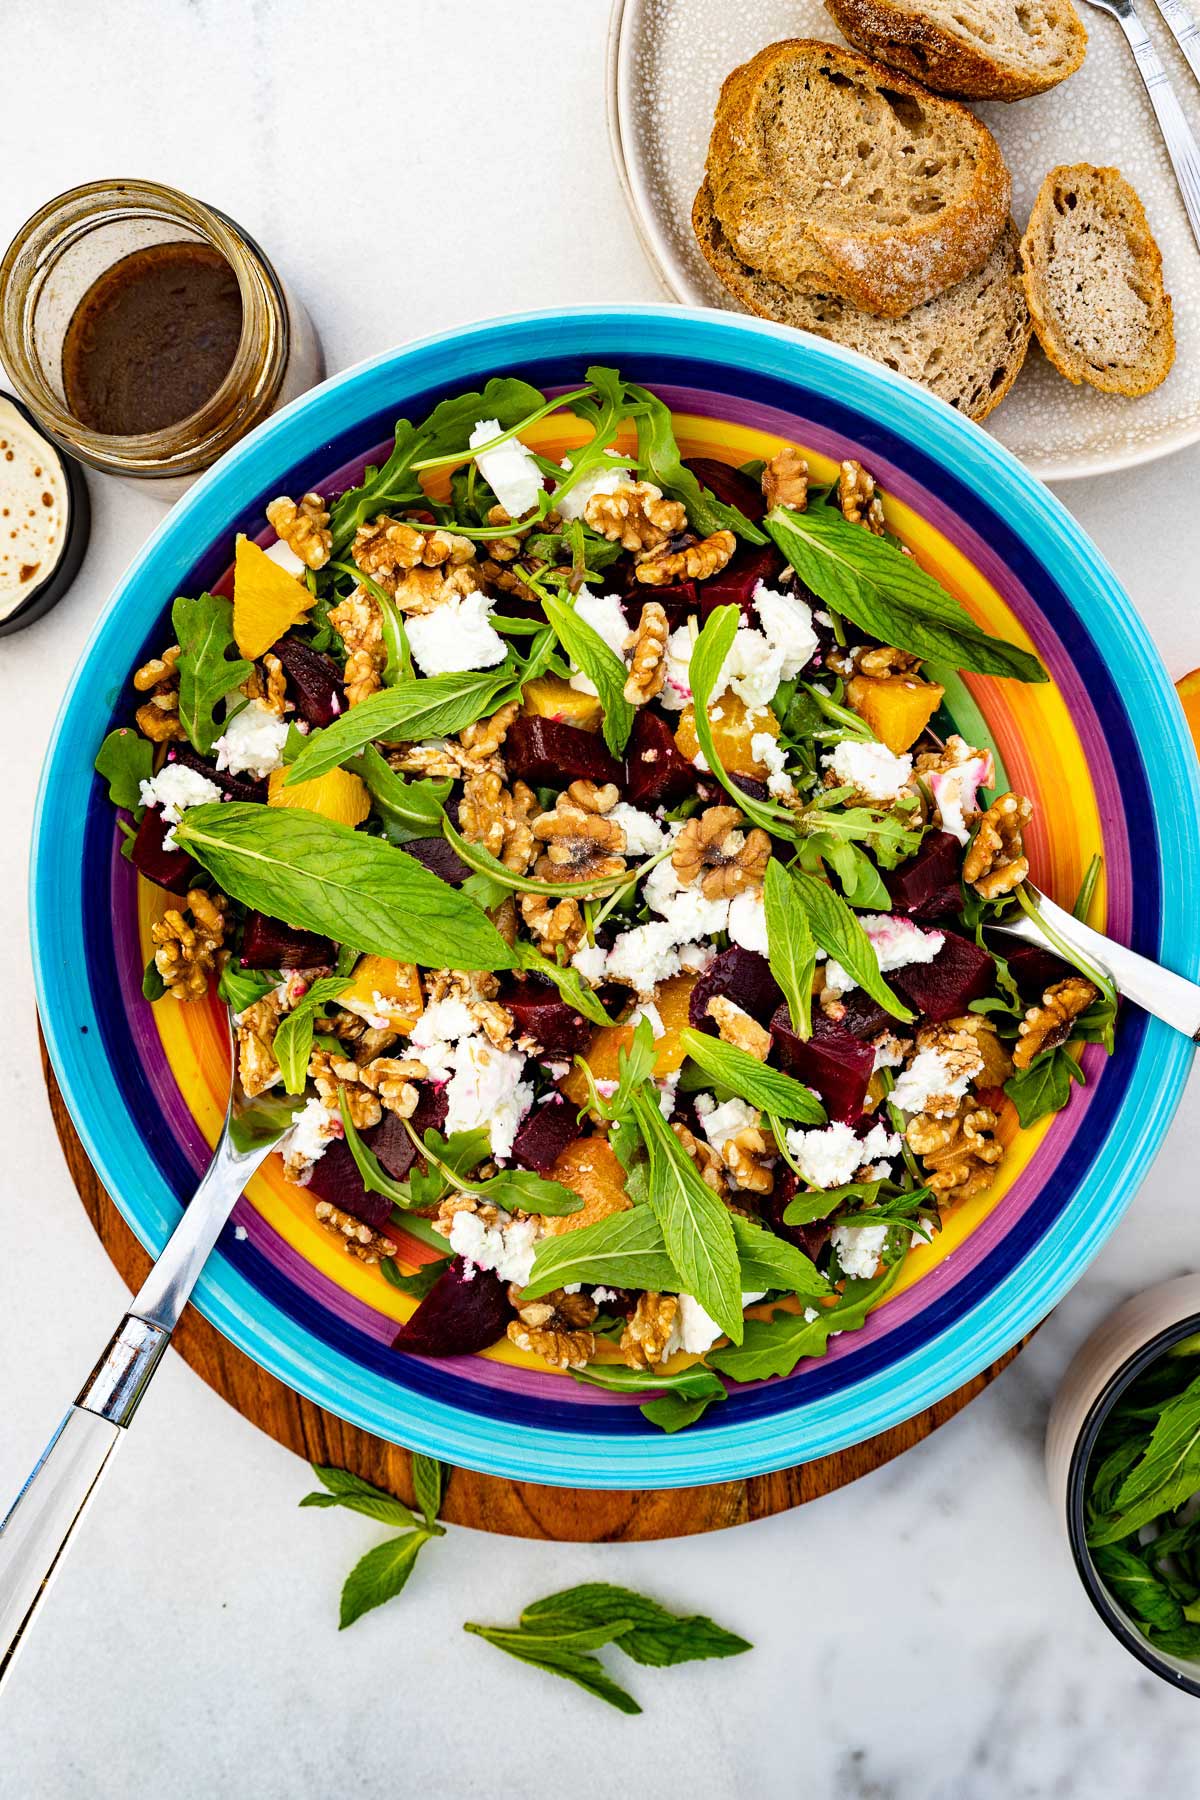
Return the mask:
<svg viewBox="0 0 1200 1800"><path fill-rule="evenodd" d="M79 1199L97 1237L130 1291L140 1287L149 1256L97 1181L70 1121L54 1071L41 1044L50 1112ZM236 1406L277 1444L286 1444L306 1462L351 1469L376 1487L390 1489L412 1501L408 1453L383 1438L372 1438L344 1424L320 1406L302 1400L273 1375L252 1363L221 1337L207 1319L189 1309L176 1332L175 1348L210 1388ZM892 1431L822 1456L819 1462L783 1469L779 1474L752 1476L748 1481L720 1481L712 1487L678 1487L664 1492L590 1492L570 1487L540 1487L531 1481L502 1481L495 1476L455 1469L446 1490L443 1517L452 1525L470 1525L479 1532L507 1537L543 1537L578 1543L633 1543L649 1537L687 1537L693 1532L718 1532L748 1519L765 1519L790 1507L801 1507L820 1494L831 1494L847 1481L912 1449L937 1426L982 1393L1022 1346L993 1363L957 1393Z"/></svg>

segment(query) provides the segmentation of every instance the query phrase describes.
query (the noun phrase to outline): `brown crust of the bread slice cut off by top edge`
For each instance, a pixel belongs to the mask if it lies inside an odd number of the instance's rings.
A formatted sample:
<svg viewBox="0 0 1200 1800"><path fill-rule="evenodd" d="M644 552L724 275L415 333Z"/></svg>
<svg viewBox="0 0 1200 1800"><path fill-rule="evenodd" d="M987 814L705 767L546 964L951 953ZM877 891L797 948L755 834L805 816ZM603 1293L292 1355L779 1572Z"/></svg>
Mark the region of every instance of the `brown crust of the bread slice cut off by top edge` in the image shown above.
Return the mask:
<svg viewBox="0 0 1200 1800"><path fill-rule="evenodd" d="M923 13L909 13L892 0L824 0L826 13L844 38L923 81L936 94L966 101L1024 101L1058 86L1087 56L1087 31L1070 0L1061 0L1070 36L1069 61L1060 68L1016 68L988 56L966 32L946 31Z"/></svg>

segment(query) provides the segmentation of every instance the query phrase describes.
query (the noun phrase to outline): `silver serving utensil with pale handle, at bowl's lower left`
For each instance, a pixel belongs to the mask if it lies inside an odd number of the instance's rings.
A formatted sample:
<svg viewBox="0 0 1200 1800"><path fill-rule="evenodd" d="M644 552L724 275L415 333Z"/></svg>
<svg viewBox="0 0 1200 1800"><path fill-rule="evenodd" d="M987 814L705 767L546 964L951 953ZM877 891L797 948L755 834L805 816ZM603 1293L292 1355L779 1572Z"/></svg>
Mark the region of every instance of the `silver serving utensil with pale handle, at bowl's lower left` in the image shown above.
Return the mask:
<svg viewBox="0 0 1200 1800"><path fill-rule="evenodd" d="M171 1343L221 1228L250 1175L291 1123L286 1116L279 1129L270 1120L257 1132L239 1129L248 1102L237 1080L232 1039L230 1015L225 1129L205 1177L0 1525L0 1685Z"/></svg>

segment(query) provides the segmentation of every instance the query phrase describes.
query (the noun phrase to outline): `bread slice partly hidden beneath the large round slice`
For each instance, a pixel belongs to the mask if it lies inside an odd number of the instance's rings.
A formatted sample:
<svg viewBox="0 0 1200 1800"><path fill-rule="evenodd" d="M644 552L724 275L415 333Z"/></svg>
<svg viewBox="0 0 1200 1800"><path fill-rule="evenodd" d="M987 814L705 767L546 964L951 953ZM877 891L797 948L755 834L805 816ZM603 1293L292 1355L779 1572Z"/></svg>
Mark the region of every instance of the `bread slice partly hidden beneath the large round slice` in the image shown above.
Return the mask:
<svg viewBox="0 0 1200 1800"><path fill-rule="evenodd" d="M707 182L696 194L691 220L714 274L752 313L873 356L921 382L968 419L986 419L1020 373L1031 324L1011 220L979 274L964 275L903 319L876 319L838 295L759 275L721 230Z"/></svg>

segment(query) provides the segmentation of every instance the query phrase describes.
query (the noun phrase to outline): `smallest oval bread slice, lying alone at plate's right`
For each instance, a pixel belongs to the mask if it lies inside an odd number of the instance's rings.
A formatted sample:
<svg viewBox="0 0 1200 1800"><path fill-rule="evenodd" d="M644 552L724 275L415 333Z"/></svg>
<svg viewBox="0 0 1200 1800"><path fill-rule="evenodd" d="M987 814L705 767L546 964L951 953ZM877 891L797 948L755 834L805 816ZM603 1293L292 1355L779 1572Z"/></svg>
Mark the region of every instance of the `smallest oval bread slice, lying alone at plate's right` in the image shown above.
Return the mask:
<svg viewBox="0 0 1200 1800"><path fill-rule="evenodd" d="M1166 380L1175 362L1171 295L1142 203L1119 169L1051 169L1020 254L1033 329L1069 382L1148 394Z"/></svg>

